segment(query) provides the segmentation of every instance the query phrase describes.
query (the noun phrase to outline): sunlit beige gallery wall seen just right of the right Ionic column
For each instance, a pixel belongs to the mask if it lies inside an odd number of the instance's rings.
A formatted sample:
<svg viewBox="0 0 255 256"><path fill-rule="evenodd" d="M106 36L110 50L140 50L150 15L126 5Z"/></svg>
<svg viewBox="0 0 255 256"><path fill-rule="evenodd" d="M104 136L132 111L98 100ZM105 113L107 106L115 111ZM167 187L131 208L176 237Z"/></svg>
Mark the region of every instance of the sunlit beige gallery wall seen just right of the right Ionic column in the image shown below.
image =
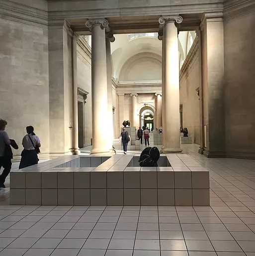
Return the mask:
<svg viewBox="0 0 255 256"><path fill-rule="evenodd" d="M195 39L180 70L180 105L182 105L183 128L188 129L194 143L200 144L199 96L199 58L198 40Z"/></svg>

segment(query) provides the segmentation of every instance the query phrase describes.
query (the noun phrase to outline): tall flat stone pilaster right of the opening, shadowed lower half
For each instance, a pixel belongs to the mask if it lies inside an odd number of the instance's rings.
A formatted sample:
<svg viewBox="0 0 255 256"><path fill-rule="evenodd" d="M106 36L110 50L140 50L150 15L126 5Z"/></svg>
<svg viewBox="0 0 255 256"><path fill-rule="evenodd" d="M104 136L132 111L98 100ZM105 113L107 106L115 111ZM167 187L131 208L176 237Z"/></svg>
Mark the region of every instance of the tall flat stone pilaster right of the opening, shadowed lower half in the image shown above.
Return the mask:
<svg viewBox="0 0 255 256"><path fill-rule="evenodd" d="M202 80L202 151L207 157L225 156L224 28L222 16L203 17L200 25ZM200 150L201 151L201 150Z"/></svg>

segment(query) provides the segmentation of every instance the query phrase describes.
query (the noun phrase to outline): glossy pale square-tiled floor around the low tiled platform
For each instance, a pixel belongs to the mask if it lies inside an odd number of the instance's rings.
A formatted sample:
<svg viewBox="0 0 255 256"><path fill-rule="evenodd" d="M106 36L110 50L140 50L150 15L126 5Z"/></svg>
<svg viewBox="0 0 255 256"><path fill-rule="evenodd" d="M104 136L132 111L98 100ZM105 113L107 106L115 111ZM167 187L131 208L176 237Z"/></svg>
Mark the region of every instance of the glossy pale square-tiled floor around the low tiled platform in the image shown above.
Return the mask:
<svg viewBox="0 0 255 256"><path fill-rule="evenodd" d="M255 161L182 148L210 170L211 207L8 206L6 188L0 256L255 256Z"/></svg>

